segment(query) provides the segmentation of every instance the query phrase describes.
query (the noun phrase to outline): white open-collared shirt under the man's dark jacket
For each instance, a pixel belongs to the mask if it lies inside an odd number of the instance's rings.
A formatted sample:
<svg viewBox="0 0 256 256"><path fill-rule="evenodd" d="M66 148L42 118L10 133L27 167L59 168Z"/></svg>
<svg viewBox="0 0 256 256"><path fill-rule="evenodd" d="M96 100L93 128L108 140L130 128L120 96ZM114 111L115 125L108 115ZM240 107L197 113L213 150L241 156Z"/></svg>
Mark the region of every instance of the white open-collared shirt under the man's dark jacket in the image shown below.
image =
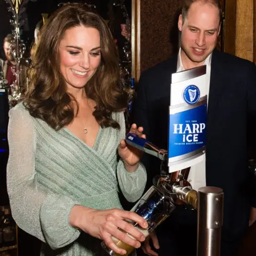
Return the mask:
<svg viewBox="0 0 256 256"><path fill-rule="evenodd" d="M210 54L206 60L204 61L204 65L206 65L206 92L207 92L207 102L208 95L210 90L210 75L211 75L211 60L212 54ZM177 63L177 72L183 71L182 60L181 60L181 49L179 50L178 55L178 63ZM190 182L193 189L198 190L198 188L202 188L206 186L206 178L205 178L205 155L202 162L193 165L190 167L188 182Z"/></svg>

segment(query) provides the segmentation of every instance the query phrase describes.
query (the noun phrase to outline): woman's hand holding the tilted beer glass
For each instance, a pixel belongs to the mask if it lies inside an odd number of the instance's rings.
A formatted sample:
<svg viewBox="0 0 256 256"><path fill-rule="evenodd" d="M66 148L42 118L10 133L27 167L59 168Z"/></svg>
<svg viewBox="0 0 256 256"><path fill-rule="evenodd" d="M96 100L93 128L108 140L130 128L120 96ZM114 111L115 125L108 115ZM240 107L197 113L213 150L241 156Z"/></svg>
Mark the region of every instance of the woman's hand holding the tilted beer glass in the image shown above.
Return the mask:
<svg viewBox="0 0 256 256"><path fill-rule="evenodd" d="M126 251L119 248L111 236L115 236L117 239L134 248L139 248L141 245L140 242L145 241L145 236L125 220L135 221L142 228L148 227L147 222L140 215L119 209L94 210L81 205L75 205L69 215L71 226L82 229L87 234L102 239L109 249L118 254L125 254ZM132 239L118 228L123 229L137 240Z"/></svg>

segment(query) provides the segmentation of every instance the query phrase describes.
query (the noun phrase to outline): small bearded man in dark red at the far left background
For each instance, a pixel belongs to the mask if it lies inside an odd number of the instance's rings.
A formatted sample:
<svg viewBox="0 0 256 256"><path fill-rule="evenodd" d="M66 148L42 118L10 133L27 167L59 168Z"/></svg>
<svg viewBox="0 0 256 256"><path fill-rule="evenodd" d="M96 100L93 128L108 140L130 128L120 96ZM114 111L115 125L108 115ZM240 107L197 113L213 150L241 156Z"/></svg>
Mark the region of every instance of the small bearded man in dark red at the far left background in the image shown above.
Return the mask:
<svg viewBox="0 0 256 256"><path fill-rule="evenodd" d="M12 53L12 47L13 45L16 45L14 42L14 37L12 34L8 34L4 38L4 53L6 60L0 59L0 72L2 71L3 78L8 81L9 85L17 84L17 77L15 76L16 72L16 65L17 62L14 59L13 53ZM27 67L24 65L20 66L21 73L20 73L20 90L23 93L25 91L25 84L26 84L26 73L27 73Z"/></svg>

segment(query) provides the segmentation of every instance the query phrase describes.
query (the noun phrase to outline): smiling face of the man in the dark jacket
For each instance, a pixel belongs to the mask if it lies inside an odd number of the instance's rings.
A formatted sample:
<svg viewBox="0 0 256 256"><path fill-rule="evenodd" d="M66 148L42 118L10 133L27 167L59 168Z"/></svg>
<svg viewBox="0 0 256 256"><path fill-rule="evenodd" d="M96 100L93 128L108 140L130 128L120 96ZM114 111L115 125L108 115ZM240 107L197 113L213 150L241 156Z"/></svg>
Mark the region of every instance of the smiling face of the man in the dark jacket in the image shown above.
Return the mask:
<svg viewBox="0 0 256 256"><path fill-rule="evenodd" d="M217 44L219 10L212 4L195 2L183 23L180 15L178 28L181 31L182 61L190 63L190 66L202 65Z"/></svg>

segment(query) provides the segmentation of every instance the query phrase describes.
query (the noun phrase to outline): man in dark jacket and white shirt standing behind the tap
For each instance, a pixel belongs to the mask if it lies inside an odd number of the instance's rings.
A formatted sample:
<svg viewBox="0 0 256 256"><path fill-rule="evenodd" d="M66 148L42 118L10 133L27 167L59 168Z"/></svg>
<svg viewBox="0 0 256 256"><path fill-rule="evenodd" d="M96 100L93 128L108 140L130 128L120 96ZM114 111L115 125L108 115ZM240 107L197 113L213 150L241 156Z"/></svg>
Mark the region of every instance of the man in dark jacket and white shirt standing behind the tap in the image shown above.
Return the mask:
<svg viewBox="0 0 256 256"><path fill-rule="evenodd" d="M187 0L179 17L179 53L141 74L133 106L133 122L143 126L147 139L167 149L170 85L173 73L206 65L208 107L206 161L191 166L194 189L220 187L224 191L221 256L236 249L255 220L254 195L247 193L247 116L256 113L256 67L247 60L215 50L220 33L218 0ZM148 180L160 172L160 161L145 154ZM152 184L152 183L151 183ZM151 184L148 184L151 185ZM160 230L159 230L160 229ZM196 211L178 207L159 226L160 256L196 255ZM157 247L157 241L154 239ZM153 246L151 246L153 247ZM157 255L146 243L143 249Z"/></svg>

